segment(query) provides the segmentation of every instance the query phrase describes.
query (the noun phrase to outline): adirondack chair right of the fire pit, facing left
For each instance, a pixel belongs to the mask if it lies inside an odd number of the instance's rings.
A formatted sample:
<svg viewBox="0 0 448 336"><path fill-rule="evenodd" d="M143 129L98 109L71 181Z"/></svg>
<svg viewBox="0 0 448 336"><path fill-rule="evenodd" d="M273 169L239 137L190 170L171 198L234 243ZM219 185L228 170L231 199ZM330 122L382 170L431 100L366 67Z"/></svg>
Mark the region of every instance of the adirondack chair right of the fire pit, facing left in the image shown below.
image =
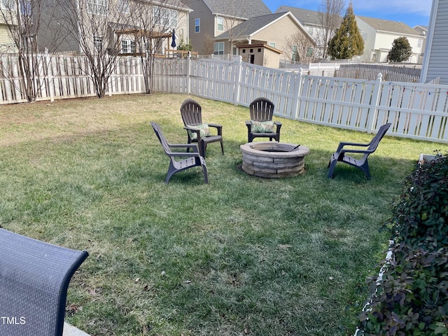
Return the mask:
<svg viewBox="0 0 448 336"><path fill-rule="evenodd" d="M365 173L365 176L367 176L367 179L370 179L370 170L367 158L369 157L370 154L372 154L374 151L377 150L379 141L383 139L384 134L386 134L389 127L391 127L391 123L379 127L377 135L375 135L372 141L370 141L370 143L368 144L340 142L339 146L337 147L337 151L335 151L335 153L331 155L330 162L328 162L328 167L330 168L330 170L328 171L328 178L332 179L336 163L344 162L347 165L351 165L353 167L361 169ZM344 149L344 146L367 147L367 149ZM351 158L351 156L347 155L347 153L361 153L364 155L360 159L355 159Z"/></svg>

